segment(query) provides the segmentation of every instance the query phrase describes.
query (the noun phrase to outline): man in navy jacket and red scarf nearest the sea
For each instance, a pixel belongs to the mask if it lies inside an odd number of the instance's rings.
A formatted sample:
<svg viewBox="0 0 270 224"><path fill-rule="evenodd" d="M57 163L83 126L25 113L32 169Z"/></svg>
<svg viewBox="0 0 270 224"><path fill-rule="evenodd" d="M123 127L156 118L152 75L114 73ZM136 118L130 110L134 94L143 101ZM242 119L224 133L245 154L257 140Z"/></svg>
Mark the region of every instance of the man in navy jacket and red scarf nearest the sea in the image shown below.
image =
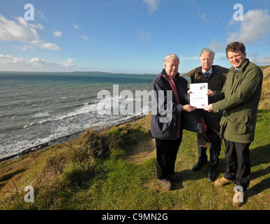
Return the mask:
<svg viewBox="0 0 270 224"><path fill-rule="evenodd" d="M174 163L181 144L185 119L183 111L195 111L188 104L188 81L179 76L179 57L167 55L163 71L151 83L156 98L156 111L152 109L151 134L156 139L156 176L166 190L172 189ZM194 130L195 131L195 130Z"/></svg>

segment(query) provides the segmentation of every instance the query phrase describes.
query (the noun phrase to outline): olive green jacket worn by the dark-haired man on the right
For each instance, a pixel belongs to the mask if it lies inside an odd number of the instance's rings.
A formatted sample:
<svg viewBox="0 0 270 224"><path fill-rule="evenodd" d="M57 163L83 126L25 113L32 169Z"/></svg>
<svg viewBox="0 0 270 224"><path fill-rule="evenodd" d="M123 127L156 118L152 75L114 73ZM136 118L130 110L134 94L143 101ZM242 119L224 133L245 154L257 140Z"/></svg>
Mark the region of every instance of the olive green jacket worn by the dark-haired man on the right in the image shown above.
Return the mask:
<svg viewBox="0 0 270 224"><path fill-rule="evenodd" d="M220 135L229 141L248 144L254 140L257 108L262 92L262 70L245 59L237 73L232 67L223 90L213 98L213 112L223 112Z"/></svg>

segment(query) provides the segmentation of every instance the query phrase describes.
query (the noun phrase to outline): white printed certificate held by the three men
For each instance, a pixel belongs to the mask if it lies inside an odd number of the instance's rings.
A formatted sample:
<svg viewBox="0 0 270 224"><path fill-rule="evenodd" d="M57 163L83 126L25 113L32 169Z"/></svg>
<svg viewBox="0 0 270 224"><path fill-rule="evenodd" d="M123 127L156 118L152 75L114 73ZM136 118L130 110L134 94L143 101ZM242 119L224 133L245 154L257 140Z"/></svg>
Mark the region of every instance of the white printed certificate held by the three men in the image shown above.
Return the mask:
<svg viewBox="0 0 270 224"><path fill-rule="evenodd" d="M203 109L208 106L208 83L190 84L190 105L196 109Z"/></svg>

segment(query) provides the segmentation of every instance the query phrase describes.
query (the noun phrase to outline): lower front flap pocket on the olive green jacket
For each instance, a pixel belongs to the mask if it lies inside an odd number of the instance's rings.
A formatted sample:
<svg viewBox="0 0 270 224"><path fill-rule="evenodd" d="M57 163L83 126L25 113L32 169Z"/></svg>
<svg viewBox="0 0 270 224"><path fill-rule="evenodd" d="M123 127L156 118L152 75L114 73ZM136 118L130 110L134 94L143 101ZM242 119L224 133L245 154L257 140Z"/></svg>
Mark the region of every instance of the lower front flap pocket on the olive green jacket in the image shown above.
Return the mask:
<svg viewBox="0 0 270 224"><path fill-rule="evenodd" d="M231 134L245 134L246 125L248 123L248 116L233 118L232 116L227 117L227 132Z"/></svg>

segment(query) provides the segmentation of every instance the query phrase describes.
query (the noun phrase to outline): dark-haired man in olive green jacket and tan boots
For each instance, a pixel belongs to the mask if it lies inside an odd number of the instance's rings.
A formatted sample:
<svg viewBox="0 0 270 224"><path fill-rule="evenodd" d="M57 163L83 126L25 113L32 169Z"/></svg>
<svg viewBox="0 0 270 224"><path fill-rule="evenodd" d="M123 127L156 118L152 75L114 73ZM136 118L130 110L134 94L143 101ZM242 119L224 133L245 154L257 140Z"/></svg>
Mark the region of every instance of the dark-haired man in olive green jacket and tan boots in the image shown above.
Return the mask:
<svg viewBox="0 0 270 224"><path fill-rule="evenodd" d="M209 97L219 99L204 110L218 113L223 111L220 120L220 135L225 139L227 170L215 186L237 183L234 188L233 204L243 205L246 189L250 183L249 146L255 137L257 107L262 92L262 70L246 58L243 43L229 43L227 58L232 64L223 90L209 90Z"/></svg>

